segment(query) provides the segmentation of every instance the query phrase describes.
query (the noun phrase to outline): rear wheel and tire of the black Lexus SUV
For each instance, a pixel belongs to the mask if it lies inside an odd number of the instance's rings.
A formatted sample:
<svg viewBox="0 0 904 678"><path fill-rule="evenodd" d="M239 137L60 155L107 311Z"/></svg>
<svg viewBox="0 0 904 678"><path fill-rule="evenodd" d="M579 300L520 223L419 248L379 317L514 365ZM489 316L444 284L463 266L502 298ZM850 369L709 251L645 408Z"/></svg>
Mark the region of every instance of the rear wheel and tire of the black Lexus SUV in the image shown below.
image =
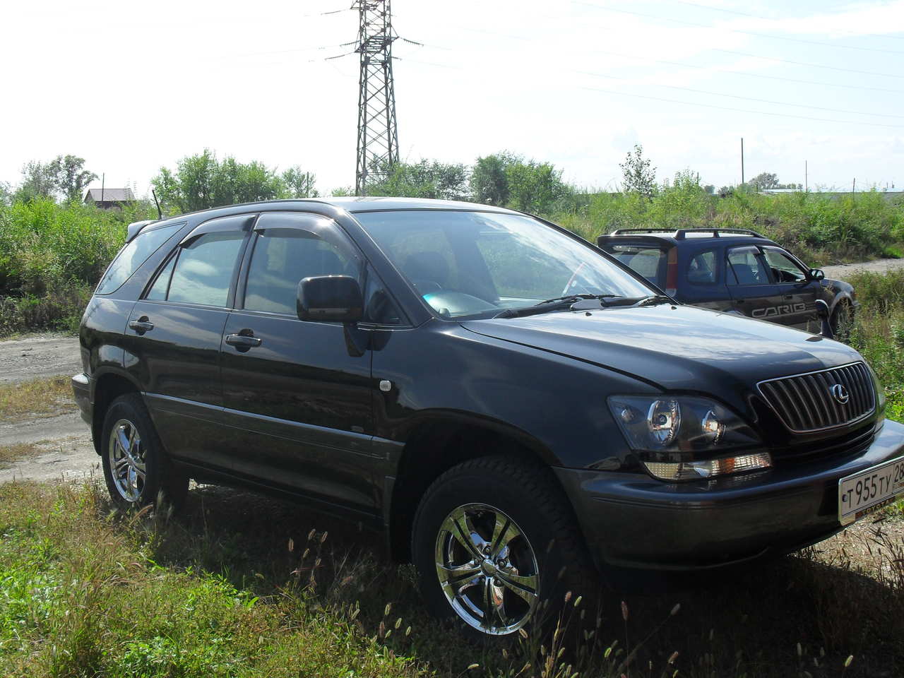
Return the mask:
<svg viewBox="0 0 904 678"><path fill-rule="evenodd" d="M188 493L188 477L177 472L157 436L138 393L119 396L104 418L100 453L104 480L114 504L142 508L158 499L179 508Z"/></svg>

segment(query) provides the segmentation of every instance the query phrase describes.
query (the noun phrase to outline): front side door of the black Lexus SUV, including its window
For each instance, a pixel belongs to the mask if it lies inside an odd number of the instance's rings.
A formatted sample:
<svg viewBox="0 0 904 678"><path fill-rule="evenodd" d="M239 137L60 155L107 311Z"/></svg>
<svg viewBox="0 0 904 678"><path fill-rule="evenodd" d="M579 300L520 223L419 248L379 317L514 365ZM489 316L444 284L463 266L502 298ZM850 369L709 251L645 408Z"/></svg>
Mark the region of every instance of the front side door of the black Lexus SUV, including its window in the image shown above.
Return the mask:
<svg viewBox="0 0 904 678"><path fill-rule="evenodd" d="M246 260L221 344L231 427L223 446L234 472L375 512L371 351L352 350L341 323L302 321L296 311L302 278L363 282L362 256L326 217L265 212Z"/></svg>

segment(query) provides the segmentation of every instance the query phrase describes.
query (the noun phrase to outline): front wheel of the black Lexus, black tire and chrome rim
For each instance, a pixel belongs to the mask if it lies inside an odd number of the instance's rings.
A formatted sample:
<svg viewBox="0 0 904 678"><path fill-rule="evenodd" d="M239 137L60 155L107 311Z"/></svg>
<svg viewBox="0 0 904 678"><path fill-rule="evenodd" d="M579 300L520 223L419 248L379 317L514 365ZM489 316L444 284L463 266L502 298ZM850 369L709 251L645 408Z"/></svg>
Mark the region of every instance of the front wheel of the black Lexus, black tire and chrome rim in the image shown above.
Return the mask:
<svg viewBox="0 0 904 678"><path fill-rule="evenodd" d="M551 471L515 457L454 466L418 507L411 553L437 617L477 636L510 636L558 617L567 592L600 587Z"/></svg>

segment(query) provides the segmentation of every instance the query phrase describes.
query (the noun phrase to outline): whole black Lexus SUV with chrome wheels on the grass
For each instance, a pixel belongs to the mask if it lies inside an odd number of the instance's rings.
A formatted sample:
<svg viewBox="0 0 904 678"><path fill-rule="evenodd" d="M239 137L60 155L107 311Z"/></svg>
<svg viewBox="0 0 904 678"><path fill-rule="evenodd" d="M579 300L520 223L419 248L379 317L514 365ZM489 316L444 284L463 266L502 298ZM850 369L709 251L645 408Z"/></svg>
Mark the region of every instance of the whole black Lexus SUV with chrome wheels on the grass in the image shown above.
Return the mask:
<svg viewBox="0 0 904 678"><path fill-rule="evenodd" d="M852 348L676 303L496 207L137 224L80 342L119 504L179 504L194 478L344 515L413 560L434 612L491 636L606 566L792 551L904 491L904 426Z"/></svg>

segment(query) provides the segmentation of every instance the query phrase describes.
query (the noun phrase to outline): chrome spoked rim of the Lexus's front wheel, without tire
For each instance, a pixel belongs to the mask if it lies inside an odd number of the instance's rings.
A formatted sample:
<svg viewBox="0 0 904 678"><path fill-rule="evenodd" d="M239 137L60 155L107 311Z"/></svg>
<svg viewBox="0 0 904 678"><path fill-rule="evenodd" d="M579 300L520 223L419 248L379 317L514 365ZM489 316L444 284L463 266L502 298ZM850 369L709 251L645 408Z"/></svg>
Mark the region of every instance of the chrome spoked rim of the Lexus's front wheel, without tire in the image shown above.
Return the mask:
<svg viewBox="0 0 904 678"><path fill-rule="evenodd" d="M485 634L517 631L537 607L540 571L531 543L493 506L465 504L449 513L439 527L436 562L449 605Z"/></svg>

